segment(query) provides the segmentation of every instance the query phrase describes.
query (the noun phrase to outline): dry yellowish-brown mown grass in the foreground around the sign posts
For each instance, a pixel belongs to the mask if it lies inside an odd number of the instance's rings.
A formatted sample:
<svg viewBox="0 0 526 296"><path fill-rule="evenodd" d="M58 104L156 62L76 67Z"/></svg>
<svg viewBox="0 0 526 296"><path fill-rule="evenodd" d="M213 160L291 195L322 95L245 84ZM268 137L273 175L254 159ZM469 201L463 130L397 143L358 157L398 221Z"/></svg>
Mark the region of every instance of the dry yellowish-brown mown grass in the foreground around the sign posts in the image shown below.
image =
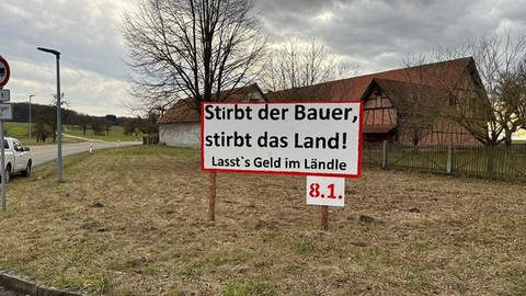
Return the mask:
<svg viewBox="0 0 526 296"><path fill-rule="evenodd" d="M107 295L526 294L525 185L366 170L323 232L301 177L218 174L208 223L198 160L123 148L14 178L0 269Z"/></svg>

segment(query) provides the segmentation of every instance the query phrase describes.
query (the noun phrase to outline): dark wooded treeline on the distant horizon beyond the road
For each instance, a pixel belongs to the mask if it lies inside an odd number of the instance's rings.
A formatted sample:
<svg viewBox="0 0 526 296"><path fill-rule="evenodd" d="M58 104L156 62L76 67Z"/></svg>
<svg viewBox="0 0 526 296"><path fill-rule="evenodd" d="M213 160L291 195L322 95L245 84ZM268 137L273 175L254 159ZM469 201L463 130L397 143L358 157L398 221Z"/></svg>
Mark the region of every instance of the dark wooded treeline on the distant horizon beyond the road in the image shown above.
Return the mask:
<svg viewBox="0 0 526 296"><path fill-rule="evenodd" d="M13 122L26 123L30 119L30 103L11 103L13 106ZM44 114L56 114L55 106L52 105L41 105L41 104L31 104L31 117L32 122L35 123L38 117L42 117ZM133 117L117 117L113 114L107 114L105 116L91 116L88 114L78 113L77 111L62 109L62 124L65 125L81 125L85 122L85 117L89 117L93 122L104 122L105 124L126 126L128 123L134 121Z"/></svg>

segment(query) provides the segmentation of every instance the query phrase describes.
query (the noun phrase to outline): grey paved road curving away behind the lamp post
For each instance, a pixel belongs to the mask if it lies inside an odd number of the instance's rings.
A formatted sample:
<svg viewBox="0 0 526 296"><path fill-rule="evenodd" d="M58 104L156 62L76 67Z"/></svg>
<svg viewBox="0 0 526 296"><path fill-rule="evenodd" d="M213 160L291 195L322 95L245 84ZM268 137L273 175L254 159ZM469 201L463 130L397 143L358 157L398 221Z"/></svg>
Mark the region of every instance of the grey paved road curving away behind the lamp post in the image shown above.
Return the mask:
<svg viewBox="0 0 526 296"><path fill-rule="evenodd" d="M92 146L93 151L96 151L105 148L136 146L141 144L142 143L140 141L93 141L62 144L62 157L88 152L90 150L90 145ZM42 166L57 159L57 145L32 146L31 151L33 153L33 167Z"/></svg>

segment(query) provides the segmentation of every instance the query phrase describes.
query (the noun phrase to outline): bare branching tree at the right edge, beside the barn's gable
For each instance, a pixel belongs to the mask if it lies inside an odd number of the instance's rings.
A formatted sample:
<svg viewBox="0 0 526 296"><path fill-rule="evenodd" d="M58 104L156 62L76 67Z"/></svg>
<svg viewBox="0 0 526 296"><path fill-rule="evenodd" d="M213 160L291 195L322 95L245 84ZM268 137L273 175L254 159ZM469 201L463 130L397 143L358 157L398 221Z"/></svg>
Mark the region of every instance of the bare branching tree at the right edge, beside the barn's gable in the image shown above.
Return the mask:
<svg viewBox="0 0 526 296"><path fill-rule="evenodd" d="M438 56L450 58L466 53L473 56L482 86L453 93L458 106L450 118L483 145L511 145L512 134L526 125L526 35L507 32L482 37L459 48L442 49Z"/></svg>

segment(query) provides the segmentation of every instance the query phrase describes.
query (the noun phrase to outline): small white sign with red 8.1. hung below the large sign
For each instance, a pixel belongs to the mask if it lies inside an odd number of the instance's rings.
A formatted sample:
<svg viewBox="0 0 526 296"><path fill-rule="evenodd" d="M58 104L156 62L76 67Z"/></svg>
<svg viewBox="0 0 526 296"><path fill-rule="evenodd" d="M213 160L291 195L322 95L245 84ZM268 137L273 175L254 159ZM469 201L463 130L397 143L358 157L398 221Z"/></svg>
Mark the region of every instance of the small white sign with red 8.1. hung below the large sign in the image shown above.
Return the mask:
<svg viewBox="0 0 526 296"><path fill-rule="evenodd" d="M307 175L307 204L344 206L345 178Z"/></svg>

